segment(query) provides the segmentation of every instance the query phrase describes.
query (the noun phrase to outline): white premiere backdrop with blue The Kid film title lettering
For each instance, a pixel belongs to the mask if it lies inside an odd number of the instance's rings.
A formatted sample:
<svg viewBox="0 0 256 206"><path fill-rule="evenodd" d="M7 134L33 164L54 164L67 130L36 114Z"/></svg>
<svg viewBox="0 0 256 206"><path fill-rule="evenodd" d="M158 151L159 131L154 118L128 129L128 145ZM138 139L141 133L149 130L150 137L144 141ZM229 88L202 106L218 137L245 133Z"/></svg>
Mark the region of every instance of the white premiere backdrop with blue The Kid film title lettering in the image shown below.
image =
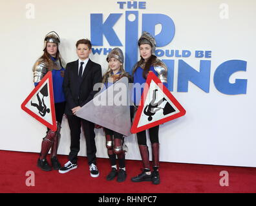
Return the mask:
<svg viewBox="0 0 256 206"><path fill-rule="evenodd" d="M59 34L66 62L77 59L78 39L91 39L90 58L104 73L109 48L117 46L131 71L139 58L136 42L147 30L169 68L169 90L187 111L160 126L160 160L256 167L254 0L11 0L1 1L0 10L0 149L40 152L46 128L21 103L34 88L32 66L48 32ZM127 159L140 160L136 135L125 144ZM63 118L58 153L68 154L69 145ZM107 158L102 129L96 129L96 146L97 156ZM85 147L82 136L81 156Z"/></svg>

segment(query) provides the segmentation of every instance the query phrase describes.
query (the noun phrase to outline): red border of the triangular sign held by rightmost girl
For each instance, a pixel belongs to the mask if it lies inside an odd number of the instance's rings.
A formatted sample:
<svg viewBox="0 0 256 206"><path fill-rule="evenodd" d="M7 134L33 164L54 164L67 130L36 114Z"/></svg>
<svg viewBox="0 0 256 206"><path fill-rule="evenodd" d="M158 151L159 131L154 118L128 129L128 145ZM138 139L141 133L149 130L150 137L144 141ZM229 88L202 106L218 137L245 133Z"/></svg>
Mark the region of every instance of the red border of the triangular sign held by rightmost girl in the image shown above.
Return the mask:
<svg viewBox="0 0 256 206"><path fill-rule="evenodd" d="M149 74L147 75L147 80L146 80L145 85L149 85L150 86L152 80L156 84L162 84L160 79L158 79L158 77L156 77L155 73L153 73L152 71L149 71ZM133 134L134 133L138 133L140 131L144 131L145 129L149 129L151 127L158 126L160 124L164 124L165 122L169 122L171 120L174 120L175 118L182 117L182 116L184 116L186 114L186 110L181 106L181 104L178 102L178 100L176 100L176 98L173 97L171 92L163 85L163 90L162 91L171 100L171 102L173 102L173 104L176 106L176 108L180 112L176 113L175 115L171 115L169 117L165 117L165 118L162 118L162 119L157 120L155 122L152 122L152 123L146 124L144 126L138 127L138 122L140 120L140 116L142 115L142 110L143 110L144 104L145 104L144 97L145 98L147 97L147 93L149 91L149 86L145 86L144 87L144 91L142 93L142 97L140 98L140 105L138 106L138 110L137 110L136 115L134 117L133 125L131 127L131 133L133 133Z"/></svg>

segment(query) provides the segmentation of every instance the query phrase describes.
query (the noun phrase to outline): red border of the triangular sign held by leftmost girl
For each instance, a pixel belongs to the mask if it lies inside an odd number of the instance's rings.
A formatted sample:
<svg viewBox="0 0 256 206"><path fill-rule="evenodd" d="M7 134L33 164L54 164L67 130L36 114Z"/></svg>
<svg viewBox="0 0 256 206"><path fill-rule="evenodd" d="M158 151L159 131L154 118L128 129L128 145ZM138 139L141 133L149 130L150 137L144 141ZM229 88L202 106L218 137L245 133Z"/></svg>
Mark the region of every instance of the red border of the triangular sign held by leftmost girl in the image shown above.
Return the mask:
<svg viewBox="0 0 256 206"><path fill-rule="evenodd" d="M36 113L31 111L30 109L26 108L26 104L28 101L34 96L34 94L41 88L42 84L45 83L45 81L49 80L49 95L50 95L50 109L52 111L52 123L48 123L43 118L39 117ZM49 129L52 129L52 131L57 130L57 124L56 124L56 115L55 115L55 107L54 107L54 92L53 92L53 86L52 86L52 71L48 71L45 77L37 84L36 88L34 88L31 93L28 95L28 97L24 100L24 102L21 104L21 109L23 109L25 112L27 112L32 117L36 118L37 121L41 122L43 125L47 126Z"/></svg>

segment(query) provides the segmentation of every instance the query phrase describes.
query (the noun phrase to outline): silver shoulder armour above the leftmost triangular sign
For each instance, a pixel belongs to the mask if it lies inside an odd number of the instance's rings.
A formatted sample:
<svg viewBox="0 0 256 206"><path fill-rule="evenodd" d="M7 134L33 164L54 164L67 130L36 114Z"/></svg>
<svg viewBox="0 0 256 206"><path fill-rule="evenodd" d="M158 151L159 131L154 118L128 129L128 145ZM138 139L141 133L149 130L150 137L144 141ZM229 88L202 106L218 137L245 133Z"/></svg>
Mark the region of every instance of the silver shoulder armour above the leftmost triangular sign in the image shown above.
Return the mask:
<svg viewBox="0 0 256 206"><path fill-rule="evenodd" d="M48 72L48 62L44 59L38 59L33 66L34 82L40 82Z"/></svg>

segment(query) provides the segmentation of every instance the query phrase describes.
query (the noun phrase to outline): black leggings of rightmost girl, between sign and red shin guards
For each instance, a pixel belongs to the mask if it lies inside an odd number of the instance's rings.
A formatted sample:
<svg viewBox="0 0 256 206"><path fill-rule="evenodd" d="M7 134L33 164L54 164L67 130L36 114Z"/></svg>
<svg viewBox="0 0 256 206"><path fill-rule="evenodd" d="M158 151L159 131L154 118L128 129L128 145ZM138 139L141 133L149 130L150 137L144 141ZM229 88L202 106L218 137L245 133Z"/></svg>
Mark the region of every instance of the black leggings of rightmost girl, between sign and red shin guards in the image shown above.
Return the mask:
<svg viewBox="0 0 256 206"><path fill-rule="evenodd" d="M159 143L158 131L159 131L159 126L151 127L149 129L149 139L150 139L151 144ZM138 145L147 145L147 138L146 138L145 130L137 133L137 140L138 140Z"/></svg>

